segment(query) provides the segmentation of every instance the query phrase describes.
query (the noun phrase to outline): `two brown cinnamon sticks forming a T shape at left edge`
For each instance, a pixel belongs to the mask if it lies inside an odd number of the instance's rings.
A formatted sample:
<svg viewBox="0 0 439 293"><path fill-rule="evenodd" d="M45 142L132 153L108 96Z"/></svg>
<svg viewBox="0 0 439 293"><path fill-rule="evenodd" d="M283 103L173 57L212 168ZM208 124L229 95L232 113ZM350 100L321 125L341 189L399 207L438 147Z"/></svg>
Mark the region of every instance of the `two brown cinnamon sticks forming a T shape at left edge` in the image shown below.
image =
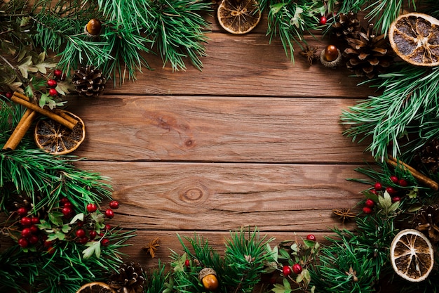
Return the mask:
<svg viewBox="0 0 439 293"><path fill-rule="evenodd" d="M23 95L22 93L18 93L17 91L13 93L11 100L14 103L25 106L27 110L21 117L20 122L18 122L17 127L15 127L8 141L6 141L5 145L3 146L4 150L15 150L15 148L17 148L23 136L25 136L27 130L32 125L32 122L34 122L34 119L39 114L53 119L63 126L66 126L68 129L74 129L74 126L78 123L74 117L66 115L64 112L56 109L50 110L47 108L41 108L39 105L30 103L27 96Z"/></svg>

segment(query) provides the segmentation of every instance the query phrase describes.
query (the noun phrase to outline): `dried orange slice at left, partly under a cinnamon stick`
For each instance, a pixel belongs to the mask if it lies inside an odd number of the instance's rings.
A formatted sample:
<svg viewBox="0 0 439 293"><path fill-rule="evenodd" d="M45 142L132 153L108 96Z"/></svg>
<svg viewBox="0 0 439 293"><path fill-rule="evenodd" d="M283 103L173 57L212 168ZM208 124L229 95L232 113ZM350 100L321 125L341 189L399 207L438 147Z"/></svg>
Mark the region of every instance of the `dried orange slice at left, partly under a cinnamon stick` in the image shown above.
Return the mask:
<svg viewBox="0 0 439 293"><path fill-rule="evenodd" d="M53 155L66 155L73 152L86 138L86 128L82 119L65 110L60 110L60 112L78 121L73 130L51 119L39 120L34 130L36 145Z"/></svg>

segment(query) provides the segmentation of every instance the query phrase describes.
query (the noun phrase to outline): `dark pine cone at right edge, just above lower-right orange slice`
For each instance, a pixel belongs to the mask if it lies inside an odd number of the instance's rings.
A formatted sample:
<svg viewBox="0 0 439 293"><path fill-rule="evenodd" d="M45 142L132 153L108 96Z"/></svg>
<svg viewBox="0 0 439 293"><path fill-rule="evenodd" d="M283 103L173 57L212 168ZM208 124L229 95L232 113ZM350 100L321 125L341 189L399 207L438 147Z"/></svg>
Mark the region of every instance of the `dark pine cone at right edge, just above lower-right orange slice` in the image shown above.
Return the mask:
<svg viewBox="0 0 439 293"><path fill-rule="evenodd" d="M428 231L428 237L432 242L439 241L439 205L433 204L419 209L415 221L416 229Z"/></svg>

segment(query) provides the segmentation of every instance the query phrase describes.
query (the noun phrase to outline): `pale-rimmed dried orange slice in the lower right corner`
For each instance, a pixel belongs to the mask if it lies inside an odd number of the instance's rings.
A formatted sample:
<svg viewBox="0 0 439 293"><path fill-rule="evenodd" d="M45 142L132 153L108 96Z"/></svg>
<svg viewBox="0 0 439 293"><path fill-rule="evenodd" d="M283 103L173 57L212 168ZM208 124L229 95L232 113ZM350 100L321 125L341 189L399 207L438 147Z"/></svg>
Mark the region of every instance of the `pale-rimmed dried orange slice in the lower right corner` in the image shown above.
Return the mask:
<svg viewBox="0 0 439 293"><path fill-rule="evenodd" d="M406 229L398 233L393 238L390 256L396 273L410 282L425 280L433 269L433 246L418 230Z"/></svg>

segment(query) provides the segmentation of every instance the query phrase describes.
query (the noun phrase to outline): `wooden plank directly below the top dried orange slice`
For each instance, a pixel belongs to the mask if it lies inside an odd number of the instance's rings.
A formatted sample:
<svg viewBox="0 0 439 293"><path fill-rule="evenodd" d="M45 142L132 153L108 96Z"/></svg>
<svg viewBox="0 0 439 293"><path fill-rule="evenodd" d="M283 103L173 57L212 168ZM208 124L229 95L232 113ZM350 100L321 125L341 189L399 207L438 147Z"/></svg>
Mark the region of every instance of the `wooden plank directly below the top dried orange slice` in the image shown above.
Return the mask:
<svg viewBox="0 0 439 293"><path fill-rule="evenodd" d="M367 85L357 86L364 79L352 75L344 65L336 70L320 62L309 66L295 46L295 63L285 55L278 39L269 44L264 34L236 36L210 33L206 44L208 57L201 58L203 71L187 62L187 70L176 71L163 67L159 56L148 54L153 71L144 70L137 82L106 93L144 95L220 95L220 96L285 96L285 97L347 97L366 98L373 93ZM320 51L330 44L327 39L307 36L310 46ZM111 81L109 82L111 84Z"/></svg>

